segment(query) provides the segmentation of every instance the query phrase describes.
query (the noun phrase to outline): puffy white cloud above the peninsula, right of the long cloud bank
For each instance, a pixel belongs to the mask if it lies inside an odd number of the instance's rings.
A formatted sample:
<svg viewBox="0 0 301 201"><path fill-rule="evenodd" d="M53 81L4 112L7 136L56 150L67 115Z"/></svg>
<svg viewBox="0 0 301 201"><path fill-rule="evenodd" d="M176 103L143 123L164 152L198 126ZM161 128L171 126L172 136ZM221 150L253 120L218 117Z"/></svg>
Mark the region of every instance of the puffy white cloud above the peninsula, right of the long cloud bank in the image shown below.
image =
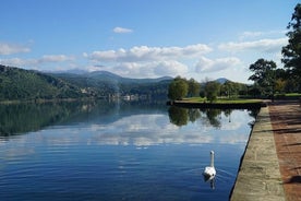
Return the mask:
<svg viewBox="0 0 301 201"><path fill-rule="evenodd" d="M239 58L236 57L227 57L227 58L218 58L218 59L208 59L202 57L198 62L195 64L196 72L216 72L222 71L229 68L233 68L241 63Z"/></svg>

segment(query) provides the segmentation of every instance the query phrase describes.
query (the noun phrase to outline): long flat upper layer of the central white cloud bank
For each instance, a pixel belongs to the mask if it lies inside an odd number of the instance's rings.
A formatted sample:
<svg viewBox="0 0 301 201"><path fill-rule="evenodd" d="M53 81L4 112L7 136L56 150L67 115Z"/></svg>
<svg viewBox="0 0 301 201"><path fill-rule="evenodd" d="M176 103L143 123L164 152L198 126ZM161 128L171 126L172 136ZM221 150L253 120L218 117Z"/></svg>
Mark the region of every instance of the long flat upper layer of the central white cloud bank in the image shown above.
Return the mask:
<svg viewBox="0 0 301 201"><path fill-rule="evenodd" d="M212 48L204 44L185 47L148 47L139 46L131 49L118 49L106 51L94 51L86 55L91 60L105 62L137 62L154 60L173 60L180 58L193 58L210 52Z"/></svg>

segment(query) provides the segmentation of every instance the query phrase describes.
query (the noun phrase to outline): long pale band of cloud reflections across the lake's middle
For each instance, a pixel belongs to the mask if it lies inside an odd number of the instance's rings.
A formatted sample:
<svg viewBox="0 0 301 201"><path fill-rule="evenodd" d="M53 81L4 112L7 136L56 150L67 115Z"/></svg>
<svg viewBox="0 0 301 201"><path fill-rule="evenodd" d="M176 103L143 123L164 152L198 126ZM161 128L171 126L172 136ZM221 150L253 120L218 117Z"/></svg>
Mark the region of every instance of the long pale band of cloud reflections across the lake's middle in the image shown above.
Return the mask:
<svg viewBox="0 0 301 201"><path fill-rule="evenodd" d="M132 115L109 123L103 121L95 123L94 121L93 123L55 126L21 138L16 137L16 139L20 141L19 144L41 141L53 146L69 146L79 143L136 146L183 143L245 144L250 134L248 122L252 120L245 111L233 111L230 122L224 115L219 120L221 122L219 128L204 123L202 118L178 127L170 123L165 114ZM32 134L34 137L31 137Z"/></svg>

